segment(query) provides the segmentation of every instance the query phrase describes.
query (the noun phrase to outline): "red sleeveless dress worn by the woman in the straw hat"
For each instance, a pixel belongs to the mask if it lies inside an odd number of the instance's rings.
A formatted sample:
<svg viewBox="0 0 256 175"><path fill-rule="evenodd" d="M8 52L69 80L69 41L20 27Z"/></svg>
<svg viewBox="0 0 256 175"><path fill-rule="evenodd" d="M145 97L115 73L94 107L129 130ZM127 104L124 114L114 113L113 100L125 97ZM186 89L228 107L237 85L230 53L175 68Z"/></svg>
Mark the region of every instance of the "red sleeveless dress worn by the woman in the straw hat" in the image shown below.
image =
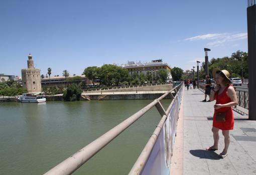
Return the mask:
<svg viewBox="0 0 256 175"><path fill-rule="evenodd" d="M218 94L218 91L215 92L214 99L216 100L215 104L226 104L231 102L231 99L227 96L227 89L230 85L223 90L221 94ZM226 112L226 121L219 122L215 121L216 112ZM232 130L234 127L234 114L232 107L222 107L220 109L214 110L213 115L213 124L214 127L219 128L221 130Z"/></svg>

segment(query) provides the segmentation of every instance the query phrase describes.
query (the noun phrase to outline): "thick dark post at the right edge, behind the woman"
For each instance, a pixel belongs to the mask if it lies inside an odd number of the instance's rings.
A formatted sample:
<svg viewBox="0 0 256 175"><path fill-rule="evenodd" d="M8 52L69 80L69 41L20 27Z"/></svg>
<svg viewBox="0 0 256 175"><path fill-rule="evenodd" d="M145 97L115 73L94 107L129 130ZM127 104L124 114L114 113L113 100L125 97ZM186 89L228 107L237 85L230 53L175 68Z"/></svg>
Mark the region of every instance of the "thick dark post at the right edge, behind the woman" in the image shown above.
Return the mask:
<svg viewBox="0 0 256 175"><path fill-rule="evenodd" d="M247 8L247 38L248 38L248 65L250 87L256 86L256 1L248 0ZM249 120L256 120L256 91L249 88Z"/></svg>

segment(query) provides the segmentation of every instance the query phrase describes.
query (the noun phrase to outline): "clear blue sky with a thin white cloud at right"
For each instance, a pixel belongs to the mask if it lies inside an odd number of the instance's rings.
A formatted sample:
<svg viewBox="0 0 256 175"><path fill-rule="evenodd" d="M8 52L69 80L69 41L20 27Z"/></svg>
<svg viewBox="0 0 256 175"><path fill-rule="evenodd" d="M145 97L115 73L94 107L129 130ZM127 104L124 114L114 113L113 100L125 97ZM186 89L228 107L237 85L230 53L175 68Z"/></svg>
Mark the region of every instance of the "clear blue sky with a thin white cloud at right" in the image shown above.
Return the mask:
<svg viewBox="0 0 256 175"><path fill-rule="evenodd" d="M163 59L183 70L247 52L247 1L1 1L0 73L21 76L33 55L41 74Z"/></svg>

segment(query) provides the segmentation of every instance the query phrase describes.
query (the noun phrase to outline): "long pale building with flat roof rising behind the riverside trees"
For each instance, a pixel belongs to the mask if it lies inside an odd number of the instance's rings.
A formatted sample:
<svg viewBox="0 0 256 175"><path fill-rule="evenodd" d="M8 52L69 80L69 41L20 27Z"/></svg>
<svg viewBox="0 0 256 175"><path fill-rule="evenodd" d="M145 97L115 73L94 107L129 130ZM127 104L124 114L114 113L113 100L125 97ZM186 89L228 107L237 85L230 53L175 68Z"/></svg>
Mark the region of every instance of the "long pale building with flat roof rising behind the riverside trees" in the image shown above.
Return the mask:
<svg viewBox="0 0 256 175"><path fill-rule="evenodd" d="M156 75L158 70L166 69L168 71L168 81L172 81L171 67L167 63L164 63L162 59L152 60L150 63L128 61L128 64L121 65L121 67L127 69L130 75L134 73L146 74L148 71L151 72L152 75Z"/></svg>

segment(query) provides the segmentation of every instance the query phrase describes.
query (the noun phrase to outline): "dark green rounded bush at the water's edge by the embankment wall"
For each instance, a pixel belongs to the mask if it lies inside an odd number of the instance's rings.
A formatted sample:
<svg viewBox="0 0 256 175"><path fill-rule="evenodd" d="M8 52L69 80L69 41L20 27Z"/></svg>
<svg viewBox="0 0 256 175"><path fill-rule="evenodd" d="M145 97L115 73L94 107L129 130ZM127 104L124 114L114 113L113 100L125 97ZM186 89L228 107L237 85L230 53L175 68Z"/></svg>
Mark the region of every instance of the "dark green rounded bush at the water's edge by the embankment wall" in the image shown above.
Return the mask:
<svg viewBox="0 0 256 175"><path fill-rule="evenodd" d="M79 101L81 93L81 87L73 83L68 86L66 91L64 91L63 99L64 101Z"/></svg>

